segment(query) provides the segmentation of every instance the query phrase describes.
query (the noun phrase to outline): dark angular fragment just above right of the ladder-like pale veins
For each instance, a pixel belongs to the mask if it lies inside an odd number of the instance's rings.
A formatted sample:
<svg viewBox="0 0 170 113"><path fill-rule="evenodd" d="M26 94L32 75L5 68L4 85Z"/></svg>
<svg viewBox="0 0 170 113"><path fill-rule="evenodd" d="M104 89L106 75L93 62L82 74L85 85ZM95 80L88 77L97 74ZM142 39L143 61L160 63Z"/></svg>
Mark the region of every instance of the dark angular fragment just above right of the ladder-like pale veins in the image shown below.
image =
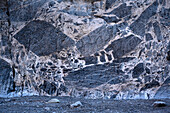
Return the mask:
<svg viewBox="0 0 170 113"><path fill-rule="evenodd" d="M113 56L114 58L121 58L123 55L131 52L135 49L135 47L142 42L141 39L139 39L136 36L130 35L121 39L118 39L116 41L113 41L105 50L107 52L113 50Z"/></svg>

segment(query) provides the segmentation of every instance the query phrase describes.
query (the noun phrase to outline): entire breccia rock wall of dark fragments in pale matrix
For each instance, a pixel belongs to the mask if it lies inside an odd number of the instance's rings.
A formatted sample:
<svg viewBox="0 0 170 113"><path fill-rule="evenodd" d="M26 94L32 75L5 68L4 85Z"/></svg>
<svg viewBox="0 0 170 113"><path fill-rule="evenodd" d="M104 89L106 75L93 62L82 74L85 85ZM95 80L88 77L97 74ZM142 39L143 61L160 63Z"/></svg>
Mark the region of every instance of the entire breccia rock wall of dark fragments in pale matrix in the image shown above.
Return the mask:
<svg viewBox="0 0 170 113"><path fill-rule="evenodd" d="M170 98L169 0L1 0L0 97Z"/></svg>

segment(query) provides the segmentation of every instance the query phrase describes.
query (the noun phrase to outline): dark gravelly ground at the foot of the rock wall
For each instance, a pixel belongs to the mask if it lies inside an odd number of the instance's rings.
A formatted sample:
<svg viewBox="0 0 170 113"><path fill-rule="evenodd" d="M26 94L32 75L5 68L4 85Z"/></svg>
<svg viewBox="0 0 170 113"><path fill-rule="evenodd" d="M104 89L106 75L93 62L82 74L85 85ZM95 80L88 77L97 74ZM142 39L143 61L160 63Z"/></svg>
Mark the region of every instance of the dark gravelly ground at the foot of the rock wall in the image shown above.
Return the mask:
<svg viewBox="0 0 170 113"><path fill-rule="evenodd" d="M57 98L57 99L56 99ZM55 103L56 101L59 103ZM76 104L73 104L75 103ZM166 106L154 107L153 103L165 103ZM159 102L159 103L158 103ZM160 104L161 104L160 103ZM77 107L72 108L70 105ZM159 104L159 105L160 105ZM81 106L83 105L83 106ZM29 96L0 98L2 113L169 113L170 99L159 100L113 100L113 99L84 99L72 97Z"/></svg>

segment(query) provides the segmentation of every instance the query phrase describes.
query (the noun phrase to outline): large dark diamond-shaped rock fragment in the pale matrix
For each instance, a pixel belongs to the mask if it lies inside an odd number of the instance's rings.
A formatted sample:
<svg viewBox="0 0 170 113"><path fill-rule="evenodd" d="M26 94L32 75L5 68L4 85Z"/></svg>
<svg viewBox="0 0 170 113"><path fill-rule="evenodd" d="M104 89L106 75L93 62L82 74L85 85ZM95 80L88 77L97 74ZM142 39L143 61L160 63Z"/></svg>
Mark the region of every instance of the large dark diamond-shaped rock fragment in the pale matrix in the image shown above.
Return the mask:
<svg viewBox="0 0 170 113"><path fill-rule="evenodd" d="M74 45L74 41L59 29L40 20L30 22L14 37L38 56L49 55Z"/></svg>

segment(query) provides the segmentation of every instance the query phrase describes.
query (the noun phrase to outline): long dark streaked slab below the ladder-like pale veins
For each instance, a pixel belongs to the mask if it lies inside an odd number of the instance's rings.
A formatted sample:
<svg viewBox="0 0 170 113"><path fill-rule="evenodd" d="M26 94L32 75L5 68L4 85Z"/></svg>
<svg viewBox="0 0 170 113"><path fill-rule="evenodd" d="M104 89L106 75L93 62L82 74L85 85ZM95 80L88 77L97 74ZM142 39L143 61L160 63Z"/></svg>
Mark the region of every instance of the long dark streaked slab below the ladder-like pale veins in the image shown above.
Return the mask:
<svg viewBox="0 0 170 113"><path fill-rule="evenodd" d="M128 78L128 75L120 70L119 65L115 62L118 61L104 65L90 66L70 72L68 76L64 77L64 80L66 84L74 84L76 88L95 88L107 82L109 84L123 83ZM122 60L122 62L124 61Z"/></svg>

